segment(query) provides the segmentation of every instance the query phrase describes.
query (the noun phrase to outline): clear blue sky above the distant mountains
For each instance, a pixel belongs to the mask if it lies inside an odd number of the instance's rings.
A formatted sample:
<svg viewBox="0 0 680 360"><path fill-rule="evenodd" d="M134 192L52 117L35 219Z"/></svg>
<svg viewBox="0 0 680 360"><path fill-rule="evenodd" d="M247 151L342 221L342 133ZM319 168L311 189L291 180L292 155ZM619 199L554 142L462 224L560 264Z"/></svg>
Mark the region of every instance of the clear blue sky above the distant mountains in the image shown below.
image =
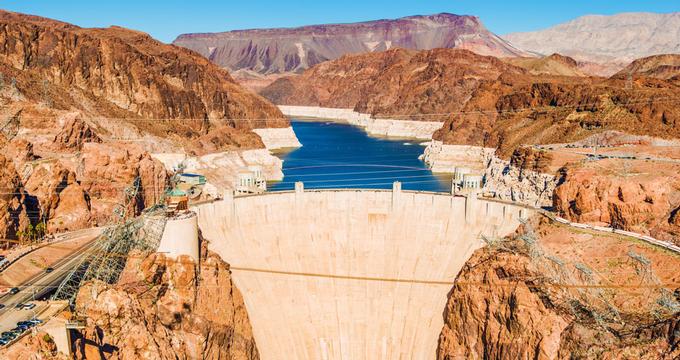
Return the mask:
<svg viewBox="0 0 680 360"><path fill-rule="evenodd" d="M0 8L83 27L120 25L172 41L187 32L355 22L438 12L479 16L505 34L549 27L586 14L680 11L680 1L600 0L3 0Z"/></svg>

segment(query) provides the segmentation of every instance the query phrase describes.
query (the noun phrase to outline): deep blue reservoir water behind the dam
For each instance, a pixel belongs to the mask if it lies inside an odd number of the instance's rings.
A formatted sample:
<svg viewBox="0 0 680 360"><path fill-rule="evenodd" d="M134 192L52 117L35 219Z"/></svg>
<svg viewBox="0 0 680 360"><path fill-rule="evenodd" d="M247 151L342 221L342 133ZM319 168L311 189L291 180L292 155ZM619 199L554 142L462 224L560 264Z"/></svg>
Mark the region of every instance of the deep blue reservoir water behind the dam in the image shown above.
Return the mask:
<svg viewBox="0 0 680 360"><path fill-rule="evenodd" d="M451 176L435 175L422 160L422 142L369 137L356 126L332 121L292 120L302 147L278 154L284 178L270 191L291 190L296 181L305 189L391 189L451 191Z"/></svg>

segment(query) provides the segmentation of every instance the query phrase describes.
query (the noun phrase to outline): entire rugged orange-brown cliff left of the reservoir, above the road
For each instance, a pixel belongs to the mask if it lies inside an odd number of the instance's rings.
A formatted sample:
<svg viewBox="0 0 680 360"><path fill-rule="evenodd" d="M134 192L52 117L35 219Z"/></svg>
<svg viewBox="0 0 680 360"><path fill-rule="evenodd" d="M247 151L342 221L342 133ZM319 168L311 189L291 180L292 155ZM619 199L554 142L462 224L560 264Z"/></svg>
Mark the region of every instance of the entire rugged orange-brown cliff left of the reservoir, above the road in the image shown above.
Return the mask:
<svg viewBox="0 0 680 360"><path fill-rule="evenodd" d="M0 11L0 149L19 176L6 184L26 192L5 202L6 219L27 214L50 231L104 224L139 179L135 214L167 182L149 152L262 149L253 129L287 126L276 106L192 51L120 27ZM13 230L2 231L15 238L27 225L8 220L2 229Z"/></svg>

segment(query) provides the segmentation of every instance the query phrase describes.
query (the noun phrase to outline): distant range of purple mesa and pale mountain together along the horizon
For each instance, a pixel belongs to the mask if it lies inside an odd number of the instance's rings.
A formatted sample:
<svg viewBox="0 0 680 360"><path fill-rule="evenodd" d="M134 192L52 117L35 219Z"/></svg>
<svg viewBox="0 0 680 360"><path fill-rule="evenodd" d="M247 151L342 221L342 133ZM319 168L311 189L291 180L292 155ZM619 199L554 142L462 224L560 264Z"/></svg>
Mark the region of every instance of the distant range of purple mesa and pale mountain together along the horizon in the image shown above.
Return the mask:
<svg viewBox="0 0 680 360"><path fill-rule="evenodd" d="M262 75L300 73L347 54L392 48L457 48L495 57L541 58L552 54L576 60L579 71L610 76L631 61L680 53L680 12L587 15L554 27L498 36L478 17L440 13L394 20L297 28L183 34L175 45L194 50L245 83ZM541 66L537 64L537 66Z"/></svg>

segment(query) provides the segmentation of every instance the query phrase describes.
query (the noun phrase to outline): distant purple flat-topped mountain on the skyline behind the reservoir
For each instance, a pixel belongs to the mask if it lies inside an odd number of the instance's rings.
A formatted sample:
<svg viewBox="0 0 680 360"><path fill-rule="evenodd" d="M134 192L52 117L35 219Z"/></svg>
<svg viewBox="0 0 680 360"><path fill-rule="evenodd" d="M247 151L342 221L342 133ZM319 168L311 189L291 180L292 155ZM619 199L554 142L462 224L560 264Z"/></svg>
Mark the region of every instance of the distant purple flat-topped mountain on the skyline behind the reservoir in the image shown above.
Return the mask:
<svg viewBox="0 0 680 360"><path fill-rule="evenodd" d="M489 32L479 18L447 13L292 29L184 34L173 44L230 70L263 74L300 72L345 54L391 48L461 48L493 56L526 54Z"/></svg>

